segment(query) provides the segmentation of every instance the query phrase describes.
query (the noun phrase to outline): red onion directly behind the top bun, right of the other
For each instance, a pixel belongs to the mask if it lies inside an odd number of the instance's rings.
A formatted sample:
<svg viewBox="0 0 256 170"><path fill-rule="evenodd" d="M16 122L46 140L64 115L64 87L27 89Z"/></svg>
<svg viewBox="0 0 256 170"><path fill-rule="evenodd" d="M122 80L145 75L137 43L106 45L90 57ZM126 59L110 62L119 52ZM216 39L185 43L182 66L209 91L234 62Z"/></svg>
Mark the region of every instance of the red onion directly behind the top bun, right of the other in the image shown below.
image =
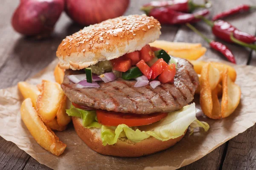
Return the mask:
<svg viewBox="0 0 256 170"><path fill-rule="evenodd" d="M67 15L82 26L122 16L130 0L66 0Z"/></svg>

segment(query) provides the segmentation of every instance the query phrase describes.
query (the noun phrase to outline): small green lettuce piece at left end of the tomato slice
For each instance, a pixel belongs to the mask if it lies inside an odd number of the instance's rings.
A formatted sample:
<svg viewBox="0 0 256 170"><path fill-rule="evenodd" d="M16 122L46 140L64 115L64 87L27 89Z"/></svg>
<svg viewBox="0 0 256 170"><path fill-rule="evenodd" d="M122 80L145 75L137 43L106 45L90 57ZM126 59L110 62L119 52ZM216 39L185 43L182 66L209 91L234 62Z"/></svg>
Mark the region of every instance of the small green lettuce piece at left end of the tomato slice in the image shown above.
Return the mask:
<svg viewBox="0 0 256 170"><path fill-rule="evenodd" d="M85 111L83 109L75 108L73 105L70 106L70 109L66 110L68 116L80 117L83 120L83 126L85 128L98 127L102 125L98 123L96 111Z"/></svg>

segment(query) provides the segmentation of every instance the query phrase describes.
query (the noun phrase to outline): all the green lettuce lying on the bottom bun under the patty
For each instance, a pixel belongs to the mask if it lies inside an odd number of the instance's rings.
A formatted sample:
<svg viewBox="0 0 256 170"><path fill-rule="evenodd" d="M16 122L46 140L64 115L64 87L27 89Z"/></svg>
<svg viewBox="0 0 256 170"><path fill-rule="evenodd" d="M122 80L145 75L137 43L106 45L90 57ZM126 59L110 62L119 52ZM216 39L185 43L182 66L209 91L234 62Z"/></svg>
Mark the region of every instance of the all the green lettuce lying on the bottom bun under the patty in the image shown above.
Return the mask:
<svg viewBox="0 0 256 170"><path fill-rule="evenodd" d="M122 137L126 137L134 143L147 139L150 136L161 141L167 141L182 136L189 125L191 126L190 130L192 133L196 127L203 127L204 130L207 131L209 125L206 122L198 121L195 117L195 113L195 103L192 103L179 111L169 113L165 119L150 125L128 127L125 124L121 124L117 127L109 127L97 122L96 111L84 111L75 108L73 105L67 110L69 116L81 117L84 127L101 127L101 139L104 146L107 144L115 144L118 138Z"/></svg>

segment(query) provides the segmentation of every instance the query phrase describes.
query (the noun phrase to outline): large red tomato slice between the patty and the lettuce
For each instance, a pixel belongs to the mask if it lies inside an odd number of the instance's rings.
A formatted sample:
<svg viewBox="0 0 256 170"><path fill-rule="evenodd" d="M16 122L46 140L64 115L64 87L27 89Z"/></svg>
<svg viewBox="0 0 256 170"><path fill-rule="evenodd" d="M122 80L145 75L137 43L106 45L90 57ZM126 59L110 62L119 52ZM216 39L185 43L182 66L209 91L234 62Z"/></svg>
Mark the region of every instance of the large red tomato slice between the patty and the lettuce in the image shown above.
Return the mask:
<svg viewBox="0 0 256 170"><path fill-rule="evenodd" d="M100 124L106 126L118 126L125 124L129 127L149 125L165 118L168 113L152 113L152 114L128 114L105 110L96 110L97 120Z"/></svg>

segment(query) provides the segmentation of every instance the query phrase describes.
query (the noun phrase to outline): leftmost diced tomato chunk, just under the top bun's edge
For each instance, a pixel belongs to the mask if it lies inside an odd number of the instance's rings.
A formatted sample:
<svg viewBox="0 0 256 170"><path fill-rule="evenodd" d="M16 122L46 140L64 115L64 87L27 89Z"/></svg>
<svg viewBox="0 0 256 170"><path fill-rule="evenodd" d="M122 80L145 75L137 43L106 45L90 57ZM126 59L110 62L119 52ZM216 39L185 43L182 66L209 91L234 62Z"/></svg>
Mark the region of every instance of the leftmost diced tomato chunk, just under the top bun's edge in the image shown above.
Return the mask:
<svg viewBox="0 0 256 170"><path fill-rule="evenodd" d="M117 59L111 59L113 69L117 71L125 72L131 68L131 59L127 59L124 56Z"/></svg>

